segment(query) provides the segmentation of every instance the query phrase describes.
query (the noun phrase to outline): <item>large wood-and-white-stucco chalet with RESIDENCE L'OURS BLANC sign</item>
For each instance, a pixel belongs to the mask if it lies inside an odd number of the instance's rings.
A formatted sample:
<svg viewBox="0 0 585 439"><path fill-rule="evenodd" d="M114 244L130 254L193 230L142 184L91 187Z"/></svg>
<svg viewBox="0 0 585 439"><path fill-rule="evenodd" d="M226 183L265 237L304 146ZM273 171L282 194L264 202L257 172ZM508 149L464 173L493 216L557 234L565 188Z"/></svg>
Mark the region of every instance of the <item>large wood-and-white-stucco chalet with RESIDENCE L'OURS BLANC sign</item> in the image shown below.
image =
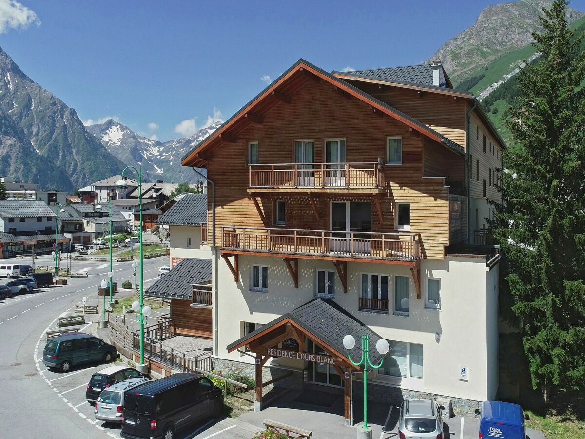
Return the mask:
<svg viewBox="0 0 585 439"><path fill-rule="evenodd" d="M295 63L182 159L212 187L214 368L255 376L257 410L263 382L339 387L349 424L363 369L342 339L369 334L374 364L390 344L371 399L431 396L456 414L493 399L500 256L485 218L504 148L440 63Z"/></svg>

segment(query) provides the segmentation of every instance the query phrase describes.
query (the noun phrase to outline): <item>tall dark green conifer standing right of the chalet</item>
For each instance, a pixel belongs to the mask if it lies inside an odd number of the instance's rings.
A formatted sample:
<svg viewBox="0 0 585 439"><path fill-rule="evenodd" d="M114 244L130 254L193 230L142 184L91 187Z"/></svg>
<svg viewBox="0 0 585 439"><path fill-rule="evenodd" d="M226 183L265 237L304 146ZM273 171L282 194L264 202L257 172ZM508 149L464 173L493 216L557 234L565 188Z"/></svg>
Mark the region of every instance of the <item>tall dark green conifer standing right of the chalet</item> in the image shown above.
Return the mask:
<svg viewBox="0 0 585 439"><path fill-rule="evenodd" d="M493 226L507 258L532 385L585 388L585 56L565 19L568 2L543 9L541 54L518 74L508 108L523 146L504 155Z"/></svg>

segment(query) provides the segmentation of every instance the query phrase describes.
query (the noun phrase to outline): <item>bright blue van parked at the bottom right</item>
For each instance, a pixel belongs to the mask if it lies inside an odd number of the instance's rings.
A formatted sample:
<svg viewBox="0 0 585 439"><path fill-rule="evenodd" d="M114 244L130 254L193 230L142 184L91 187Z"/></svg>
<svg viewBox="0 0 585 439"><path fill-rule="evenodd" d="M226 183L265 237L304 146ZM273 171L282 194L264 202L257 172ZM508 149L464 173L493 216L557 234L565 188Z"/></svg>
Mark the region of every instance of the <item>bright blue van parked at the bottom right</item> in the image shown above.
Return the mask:
<svg viewBox="0 0 585 439"><path fill-rule="evenodd" d="M530 419L518 404L499 401L484 401L479 421L480 439L526 439L524 420Z"/></svg>

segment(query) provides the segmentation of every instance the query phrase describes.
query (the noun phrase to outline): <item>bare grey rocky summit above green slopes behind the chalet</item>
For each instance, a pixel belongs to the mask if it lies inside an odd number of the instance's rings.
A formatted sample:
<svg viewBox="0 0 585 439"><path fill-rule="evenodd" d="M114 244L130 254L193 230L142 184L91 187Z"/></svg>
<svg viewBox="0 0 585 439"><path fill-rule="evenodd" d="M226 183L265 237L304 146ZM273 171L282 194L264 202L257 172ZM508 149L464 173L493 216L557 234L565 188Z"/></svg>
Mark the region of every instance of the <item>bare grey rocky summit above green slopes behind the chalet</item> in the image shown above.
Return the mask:
<svg viewBox="0 0 585 439"><path fill-rule="evenodd" d="M500 61L512 71L534 54L523 49L531 47L532 31L541 30L538 16L542 7L548 8L550 4L552 0L521 0L487 6L473 26L448 40L429 61L441 60L453 84L481 74L487 76L483 69L505 56ZM585 12L567 8L569 23L583 16Z"/></svg>

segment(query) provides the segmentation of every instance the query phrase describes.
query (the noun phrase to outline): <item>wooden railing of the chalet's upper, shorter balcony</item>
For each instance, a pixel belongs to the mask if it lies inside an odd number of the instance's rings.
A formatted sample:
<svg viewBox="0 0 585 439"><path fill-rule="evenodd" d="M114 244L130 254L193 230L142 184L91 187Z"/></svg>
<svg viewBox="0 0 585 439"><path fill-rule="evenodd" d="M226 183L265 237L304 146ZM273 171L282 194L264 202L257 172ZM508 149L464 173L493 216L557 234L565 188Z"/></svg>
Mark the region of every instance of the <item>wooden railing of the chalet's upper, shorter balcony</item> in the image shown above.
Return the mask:
<svg viewBox="0 0 585 439"><path fill-rule="evenodd" d="M251 164L250 188L377 189L384 187L381 163Z"/></svg>

